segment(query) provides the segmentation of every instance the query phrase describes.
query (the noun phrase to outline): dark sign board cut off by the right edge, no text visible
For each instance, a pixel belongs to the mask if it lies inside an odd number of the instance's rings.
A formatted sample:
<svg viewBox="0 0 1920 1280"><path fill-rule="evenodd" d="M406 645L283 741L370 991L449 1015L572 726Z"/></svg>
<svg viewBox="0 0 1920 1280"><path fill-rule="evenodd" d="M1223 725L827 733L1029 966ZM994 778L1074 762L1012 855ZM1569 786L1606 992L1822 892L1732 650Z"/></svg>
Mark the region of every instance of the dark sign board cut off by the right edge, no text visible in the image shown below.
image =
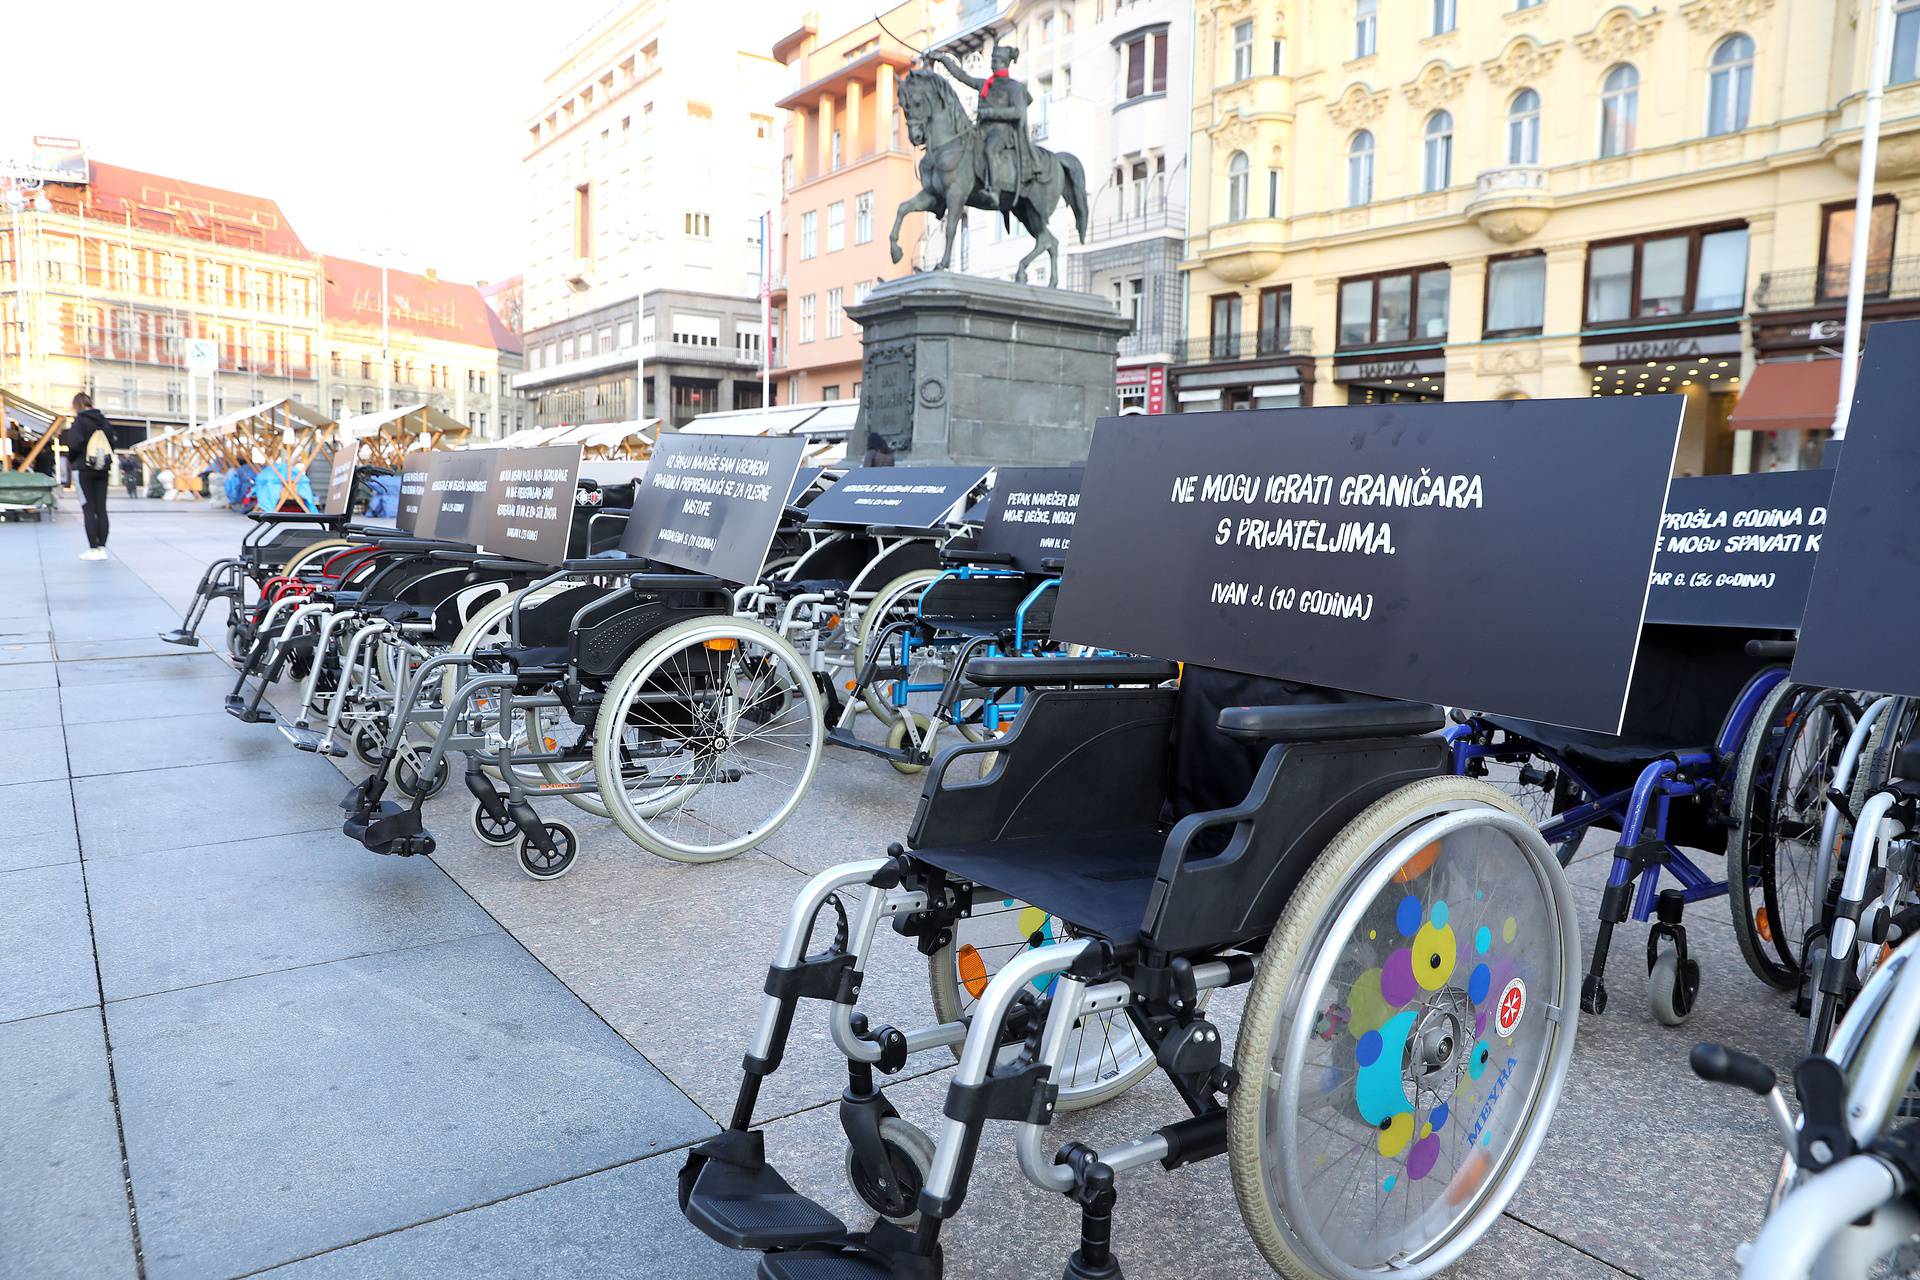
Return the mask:
<svg viewBox="0 0 1920 1280"><path fill-rule="evenodd" d="M1866 338L1793 679L1920 695L1920 320Z"/></svg>

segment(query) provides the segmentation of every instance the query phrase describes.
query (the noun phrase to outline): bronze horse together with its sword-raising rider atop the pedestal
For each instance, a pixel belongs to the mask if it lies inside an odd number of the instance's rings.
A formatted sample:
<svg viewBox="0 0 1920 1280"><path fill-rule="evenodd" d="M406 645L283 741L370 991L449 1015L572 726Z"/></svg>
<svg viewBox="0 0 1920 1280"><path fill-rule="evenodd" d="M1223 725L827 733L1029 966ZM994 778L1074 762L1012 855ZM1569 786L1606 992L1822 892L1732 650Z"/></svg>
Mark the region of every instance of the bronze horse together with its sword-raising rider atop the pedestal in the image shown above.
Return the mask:
<svg viewBox="0 0 1920 1280"><path fill-rule="evenodd" d="M908 213L927 213L947 225L941 271L954 259L954 238L966 209L995 209L1002 223L1020 225L1033 236L1033 251L1014 269L1016 280L1041 253L1052 267L1050 282L1060 284L1060 240L1046 228L1054 207L1066 200L1073 209L1073 228L1087 242L1087 175L1066 152L1033 146L1027 136L1027 86L1008 75L1020 52L993 46L993 75L979 79L947 54L927 54L922 65L900 77L900 115L908 140L922 148L920 192L893 215L893 261L900 261L900 223ZM960 94L933 65L947 67L954 81L979 94L977 121L968 119Z"/></svg>

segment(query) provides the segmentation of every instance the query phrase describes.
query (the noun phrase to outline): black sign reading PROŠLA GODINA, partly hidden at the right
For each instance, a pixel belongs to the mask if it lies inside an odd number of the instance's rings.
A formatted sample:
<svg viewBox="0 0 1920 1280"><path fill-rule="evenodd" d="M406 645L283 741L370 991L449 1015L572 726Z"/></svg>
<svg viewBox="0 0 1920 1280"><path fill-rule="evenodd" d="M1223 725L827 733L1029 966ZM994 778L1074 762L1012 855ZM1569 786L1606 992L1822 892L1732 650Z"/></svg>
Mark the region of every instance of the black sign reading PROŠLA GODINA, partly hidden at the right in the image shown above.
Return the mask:
<svg viewBox="0 0 1920 1280"><path fill-rule="evenodd" d="M1784 629L1807 610L1830 470L1688 476L1667 491L1647 622Z"/></svg>

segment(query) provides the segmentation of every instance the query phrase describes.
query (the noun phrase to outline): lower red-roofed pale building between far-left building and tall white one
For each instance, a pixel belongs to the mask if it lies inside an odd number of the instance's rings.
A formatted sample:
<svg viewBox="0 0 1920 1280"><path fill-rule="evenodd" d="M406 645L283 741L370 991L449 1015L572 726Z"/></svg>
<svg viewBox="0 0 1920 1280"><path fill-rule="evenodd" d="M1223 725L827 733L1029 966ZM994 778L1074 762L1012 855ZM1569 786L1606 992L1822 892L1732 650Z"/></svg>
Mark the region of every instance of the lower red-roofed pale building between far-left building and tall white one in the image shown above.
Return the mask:
<svg viewBox="0 0 1920 1280"><path fill-rule="evenodd" d="M319 407L336 422L394 405L432 405L499 439L526 426L513 388L520 340L472 284L436 273L321 259L326 305L321 328Z"/></svg>

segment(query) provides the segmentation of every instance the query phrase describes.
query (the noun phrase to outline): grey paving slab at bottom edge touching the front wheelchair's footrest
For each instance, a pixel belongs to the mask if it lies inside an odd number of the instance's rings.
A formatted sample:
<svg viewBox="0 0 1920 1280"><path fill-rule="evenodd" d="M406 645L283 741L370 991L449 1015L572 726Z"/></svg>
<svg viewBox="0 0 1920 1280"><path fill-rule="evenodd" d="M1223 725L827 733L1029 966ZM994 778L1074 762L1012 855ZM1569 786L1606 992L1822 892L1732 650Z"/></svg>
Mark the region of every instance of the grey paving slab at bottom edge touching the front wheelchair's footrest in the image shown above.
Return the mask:
<svg viewBox="0 0 1920 1280"><path fill-rule="evenodd" d="M676 1205L678 1155L655 1155L276 1267L275 1280L749 1280L758 1255L724 1249Z"/></svg>

